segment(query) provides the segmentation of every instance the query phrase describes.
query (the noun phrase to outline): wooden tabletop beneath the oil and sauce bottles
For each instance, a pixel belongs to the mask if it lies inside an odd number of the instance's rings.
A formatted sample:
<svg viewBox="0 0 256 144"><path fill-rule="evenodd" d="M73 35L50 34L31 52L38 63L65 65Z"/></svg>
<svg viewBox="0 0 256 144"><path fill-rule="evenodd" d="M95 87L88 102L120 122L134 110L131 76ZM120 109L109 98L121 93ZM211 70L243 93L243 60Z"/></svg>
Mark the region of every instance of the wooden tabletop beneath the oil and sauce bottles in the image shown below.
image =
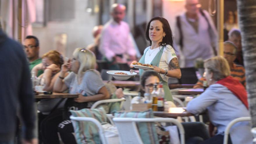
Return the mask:
<svg viewBox="0 0 256 144"><path fill-rule="evenodd" d="M183 108L170 108L170 109L177 109L177 112L172 112L172 111L154 111L154 116L158 117L167 117L167 118L177 118L177 117L188 117L188 116L193 116L192 113L189 113L187 111L181 111ZM180 111L180 112L179 112Z"/></svg>

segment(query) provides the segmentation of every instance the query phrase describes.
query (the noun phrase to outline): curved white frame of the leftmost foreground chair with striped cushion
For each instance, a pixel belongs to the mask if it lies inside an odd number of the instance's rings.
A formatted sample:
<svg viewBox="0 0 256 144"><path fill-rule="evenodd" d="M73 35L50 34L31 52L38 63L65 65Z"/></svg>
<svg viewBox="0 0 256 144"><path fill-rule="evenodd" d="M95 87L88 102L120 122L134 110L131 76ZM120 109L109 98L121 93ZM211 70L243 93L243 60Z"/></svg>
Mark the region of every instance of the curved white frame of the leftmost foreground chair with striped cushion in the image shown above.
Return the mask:
<svg viewBox="0 0 256 144"><path fill-rule="evenodd" d="M89 117L74 117L74 116L70 116L70 119L72 121L72 123L74 121L87 121L87 122L93 122L99 129L99 136L100 136L100 140L102 141L102 144L108 144L106 138L105 138L105 131L102 128L101 123L96 120L95 118L89 118Z"/></svg>

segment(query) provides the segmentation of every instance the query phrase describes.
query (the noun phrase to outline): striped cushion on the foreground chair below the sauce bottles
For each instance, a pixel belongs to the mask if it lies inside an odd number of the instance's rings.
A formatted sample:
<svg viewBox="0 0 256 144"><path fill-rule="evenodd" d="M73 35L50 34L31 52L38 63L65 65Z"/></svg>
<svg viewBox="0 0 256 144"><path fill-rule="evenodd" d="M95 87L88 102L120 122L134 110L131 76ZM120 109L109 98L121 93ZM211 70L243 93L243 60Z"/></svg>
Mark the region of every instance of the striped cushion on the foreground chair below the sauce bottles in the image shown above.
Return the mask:
<svg viewBox="0 0 256 144"><path fill-rule="evenodd" d="M152 109L143 112L116 112L114 115L117 118L154 118ZM141 135L141 140L143 143L159 144L154 122L136 122L136 125L138 127L138 131Z"/></svg>

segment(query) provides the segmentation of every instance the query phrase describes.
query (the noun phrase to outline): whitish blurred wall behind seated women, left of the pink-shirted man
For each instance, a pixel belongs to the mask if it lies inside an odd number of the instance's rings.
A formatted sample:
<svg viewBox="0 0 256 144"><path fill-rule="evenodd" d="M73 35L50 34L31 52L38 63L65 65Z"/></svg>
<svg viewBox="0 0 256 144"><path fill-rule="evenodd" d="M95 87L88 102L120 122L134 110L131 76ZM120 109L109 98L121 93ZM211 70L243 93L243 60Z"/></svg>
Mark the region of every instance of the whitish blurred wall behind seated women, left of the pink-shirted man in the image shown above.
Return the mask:
<svg viewBox="0 0 256 144"><path fill-rule="evenodd" d="M46 27L33 28L33 35L40 41L40 56L55 49L54 36L67 34L66 56L71 58L77 47L86 47L93 42L92 29L97 25L98 14L86 12L88 0L75 0L75 18L69 22L48 22Z"/></svg>

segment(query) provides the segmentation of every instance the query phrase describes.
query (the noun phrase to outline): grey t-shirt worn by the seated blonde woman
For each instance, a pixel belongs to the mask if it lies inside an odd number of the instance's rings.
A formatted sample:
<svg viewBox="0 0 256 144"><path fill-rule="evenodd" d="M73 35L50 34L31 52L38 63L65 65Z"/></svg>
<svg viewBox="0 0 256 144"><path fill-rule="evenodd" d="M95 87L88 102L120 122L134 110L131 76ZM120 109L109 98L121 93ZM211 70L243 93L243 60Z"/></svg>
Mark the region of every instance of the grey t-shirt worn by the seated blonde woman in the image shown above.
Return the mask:
<svg viewBox="0 0 256 144"><path fill-rule="evenodd" d="M83 96L90 96L98 94L99 90L104 86L100 74L96 70L87 70L83 75L83 80L78 83L78 75L71 72L65 77L64 82L69 88L69 93L80 93ZM87 107L92 106L92 102L89 102Z"/></svg>

